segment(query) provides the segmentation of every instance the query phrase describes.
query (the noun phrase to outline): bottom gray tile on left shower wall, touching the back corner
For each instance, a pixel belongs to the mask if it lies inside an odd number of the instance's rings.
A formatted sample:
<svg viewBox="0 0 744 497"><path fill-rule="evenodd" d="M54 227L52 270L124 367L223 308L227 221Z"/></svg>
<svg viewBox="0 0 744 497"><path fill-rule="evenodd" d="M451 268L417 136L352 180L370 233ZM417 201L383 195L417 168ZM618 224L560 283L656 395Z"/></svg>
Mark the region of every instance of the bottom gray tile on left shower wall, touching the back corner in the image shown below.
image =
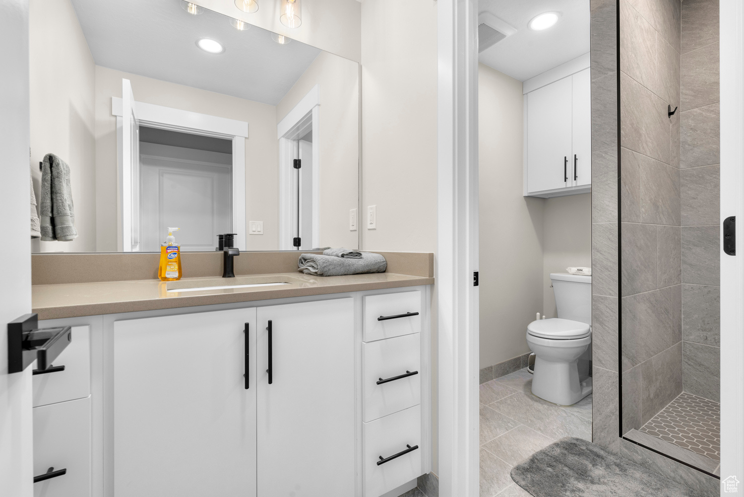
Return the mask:
<svg viewBox="0 0 744 497"><path fill-rule="evenodd" d="M645 424L682 393L682 342L644 361L641 382L641 424Z"/></svg>

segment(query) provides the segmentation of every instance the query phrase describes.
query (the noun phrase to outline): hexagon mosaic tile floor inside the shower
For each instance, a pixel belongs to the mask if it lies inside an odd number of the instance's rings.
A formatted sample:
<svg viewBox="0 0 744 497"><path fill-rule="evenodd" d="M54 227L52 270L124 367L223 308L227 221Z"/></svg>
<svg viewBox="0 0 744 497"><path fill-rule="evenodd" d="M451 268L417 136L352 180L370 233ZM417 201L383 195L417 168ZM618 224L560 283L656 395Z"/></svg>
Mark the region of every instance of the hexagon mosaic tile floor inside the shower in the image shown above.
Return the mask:
<svg viewBox="0 0 744 497"><path fill-rule="evenodd" d="M721 405L718 402L682 392L641 426L641 431L707 458L721 460Z"/></svg>

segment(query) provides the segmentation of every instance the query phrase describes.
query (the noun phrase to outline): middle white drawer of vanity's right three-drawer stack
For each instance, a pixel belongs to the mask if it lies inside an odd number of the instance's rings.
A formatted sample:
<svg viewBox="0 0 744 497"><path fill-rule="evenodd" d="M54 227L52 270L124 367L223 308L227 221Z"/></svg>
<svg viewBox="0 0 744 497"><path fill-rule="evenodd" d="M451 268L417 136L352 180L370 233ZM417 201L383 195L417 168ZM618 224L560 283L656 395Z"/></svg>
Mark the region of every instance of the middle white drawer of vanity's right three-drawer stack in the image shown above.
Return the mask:
<svg viewBox="0 0 744 497"><path fill-rule="evenodd" d="M364 421L420 404L421 376L420 333L362 344Z"/></svg>

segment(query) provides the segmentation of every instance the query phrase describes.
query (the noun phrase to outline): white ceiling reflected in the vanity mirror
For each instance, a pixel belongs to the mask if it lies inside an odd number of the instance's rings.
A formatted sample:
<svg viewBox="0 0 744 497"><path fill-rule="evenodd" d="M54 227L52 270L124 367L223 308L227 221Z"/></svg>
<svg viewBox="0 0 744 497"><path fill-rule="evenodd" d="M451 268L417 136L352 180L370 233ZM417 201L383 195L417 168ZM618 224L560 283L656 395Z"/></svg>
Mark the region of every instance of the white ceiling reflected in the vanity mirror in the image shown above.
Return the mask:
<svg viewBox="0 0 744 497"><path fill-rule="evenodd" d="M238 31L205 10L192 16L181 0L71 0L98 66L276 105L321 52L269 31ZM208 54L196 40L222 43ZM136 98L136 95L135 95Z"/></svg>

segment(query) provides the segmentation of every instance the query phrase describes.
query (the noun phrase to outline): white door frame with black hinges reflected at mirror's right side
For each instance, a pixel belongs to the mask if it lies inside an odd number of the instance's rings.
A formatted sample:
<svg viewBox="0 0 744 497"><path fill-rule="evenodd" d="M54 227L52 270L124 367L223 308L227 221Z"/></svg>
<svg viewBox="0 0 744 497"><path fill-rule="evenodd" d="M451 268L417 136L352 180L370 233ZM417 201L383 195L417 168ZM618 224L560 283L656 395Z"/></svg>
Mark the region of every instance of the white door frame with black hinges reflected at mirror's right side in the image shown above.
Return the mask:
<svg viewBox="0 0 744 497"><path fill-rule="evenodd" d="M300 138L301 133L312 124L312 247L320 247L320 109L321 88L315 85L301 101L289 111L277 124L279 140L279 250L295 250L292 247L295 212L297 212L297 195L295 174L291 174L292 159L295 154L289 141Z"/></svg>

